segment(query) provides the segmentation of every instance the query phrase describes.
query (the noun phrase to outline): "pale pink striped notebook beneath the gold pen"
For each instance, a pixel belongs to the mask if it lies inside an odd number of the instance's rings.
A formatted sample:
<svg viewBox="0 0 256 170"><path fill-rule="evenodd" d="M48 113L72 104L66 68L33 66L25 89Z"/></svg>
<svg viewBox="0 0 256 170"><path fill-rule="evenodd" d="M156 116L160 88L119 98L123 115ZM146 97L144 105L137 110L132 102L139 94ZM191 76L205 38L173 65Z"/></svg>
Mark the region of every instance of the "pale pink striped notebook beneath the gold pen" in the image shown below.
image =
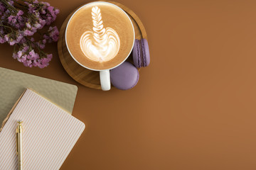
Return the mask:
<svg viewBox="0 0 256 170"><path fill-rule="evenodd" d="M23 169L60 169L85 129L77 118L27 89L0 132L0 169L18 169L16 125L23 120Z"/></svg>

